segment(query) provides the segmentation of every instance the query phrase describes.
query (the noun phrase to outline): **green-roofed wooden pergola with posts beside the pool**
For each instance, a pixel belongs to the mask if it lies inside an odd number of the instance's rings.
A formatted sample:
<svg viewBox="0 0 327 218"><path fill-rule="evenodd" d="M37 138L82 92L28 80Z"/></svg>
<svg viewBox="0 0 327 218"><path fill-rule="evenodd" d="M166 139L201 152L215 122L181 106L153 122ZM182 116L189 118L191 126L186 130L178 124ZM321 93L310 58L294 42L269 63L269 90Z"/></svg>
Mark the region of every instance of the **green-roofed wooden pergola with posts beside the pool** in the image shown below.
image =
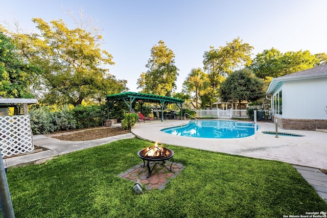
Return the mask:
<svg viewBox="0 0 327 218"><path fill-rule="evenodd" d="M138 93L138 92L123 92L119 94L112 94L106 96L107 101L107 116L109 119L109 110L113 107L113 105L118 101L124 101L129 108L129 112L132 112L132 103L137 102L142 106L144 103L157 103L161 108L161 121L164 121L164 110L169 104L176 104L177 107L183 111L182 105L184 100L171 98L169 96L161 96L155 94L146 94L146 93Z"/></svg>

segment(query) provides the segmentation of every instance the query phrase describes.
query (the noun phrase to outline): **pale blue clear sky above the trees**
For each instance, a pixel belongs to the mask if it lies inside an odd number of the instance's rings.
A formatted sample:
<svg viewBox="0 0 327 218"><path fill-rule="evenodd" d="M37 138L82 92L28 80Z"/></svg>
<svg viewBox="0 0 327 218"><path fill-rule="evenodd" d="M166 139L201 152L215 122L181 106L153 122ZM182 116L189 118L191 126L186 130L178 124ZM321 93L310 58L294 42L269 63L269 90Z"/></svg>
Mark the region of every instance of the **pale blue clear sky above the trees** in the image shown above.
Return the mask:
<svg viewBox="0 0 327 218"><path fill-rule="evenodd" d="M326 0L11 0L3 1L0 24L19 22L19 28L37 32L32 18L62 19L75 29L69 10L80 12L102 29L102 50L113 56L110 74L127 80L129 91L139 92L137 79L159 40L175 54L179 69L177 92L193 68L203 67L203 54L240 37L254 47L252 58L272 47L282 53L309 50L327 53Z"/></svg>

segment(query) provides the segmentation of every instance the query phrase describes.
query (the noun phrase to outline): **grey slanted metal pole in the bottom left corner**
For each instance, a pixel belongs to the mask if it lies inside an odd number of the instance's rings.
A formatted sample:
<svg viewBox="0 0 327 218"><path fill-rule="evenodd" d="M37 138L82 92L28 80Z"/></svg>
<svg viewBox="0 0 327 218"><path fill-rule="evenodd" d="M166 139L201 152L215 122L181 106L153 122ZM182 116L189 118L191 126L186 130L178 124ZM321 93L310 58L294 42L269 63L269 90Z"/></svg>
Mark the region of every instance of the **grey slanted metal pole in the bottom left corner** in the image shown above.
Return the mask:
<svg viewBox="0 0 327 218"><path fill-rule="evenodd" d="M2 155L0 155L0 207L2 217L15 217Z"/></svg>

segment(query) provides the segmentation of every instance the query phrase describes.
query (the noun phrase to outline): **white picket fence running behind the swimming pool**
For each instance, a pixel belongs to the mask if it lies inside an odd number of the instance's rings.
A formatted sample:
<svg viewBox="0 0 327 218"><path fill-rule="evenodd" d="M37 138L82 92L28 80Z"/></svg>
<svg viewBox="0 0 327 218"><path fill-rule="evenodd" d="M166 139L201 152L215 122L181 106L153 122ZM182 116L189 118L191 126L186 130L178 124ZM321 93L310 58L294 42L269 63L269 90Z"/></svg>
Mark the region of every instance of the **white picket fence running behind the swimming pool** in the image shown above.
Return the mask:
<svg viewBox="0 0 327 218"><path fill-rule="evenodd" d="M196 110L196 117L214 117L214 118L249 118L246 109L200 109ZM263 113L270 114L269 110L263 111Z"/></svg>

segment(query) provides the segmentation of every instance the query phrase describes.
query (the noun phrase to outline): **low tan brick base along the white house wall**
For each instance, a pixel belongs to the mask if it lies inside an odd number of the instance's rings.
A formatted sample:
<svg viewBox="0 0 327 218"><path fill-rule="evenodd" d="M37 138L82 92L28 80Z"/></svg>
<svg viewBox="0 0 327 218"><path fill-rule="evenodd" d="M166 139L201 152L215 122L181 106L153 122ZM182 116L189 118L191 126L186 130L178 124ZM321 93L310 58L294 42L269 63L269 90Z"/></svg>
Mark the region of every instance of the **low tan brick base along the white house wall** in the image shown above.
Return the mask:
<svg viewBox="0 0 327 218"><path fill-rule="evenodd" d="M287 130L316 130L327 129L327 119L286 119L273 117L278 120L278 127Z"/></svg>

